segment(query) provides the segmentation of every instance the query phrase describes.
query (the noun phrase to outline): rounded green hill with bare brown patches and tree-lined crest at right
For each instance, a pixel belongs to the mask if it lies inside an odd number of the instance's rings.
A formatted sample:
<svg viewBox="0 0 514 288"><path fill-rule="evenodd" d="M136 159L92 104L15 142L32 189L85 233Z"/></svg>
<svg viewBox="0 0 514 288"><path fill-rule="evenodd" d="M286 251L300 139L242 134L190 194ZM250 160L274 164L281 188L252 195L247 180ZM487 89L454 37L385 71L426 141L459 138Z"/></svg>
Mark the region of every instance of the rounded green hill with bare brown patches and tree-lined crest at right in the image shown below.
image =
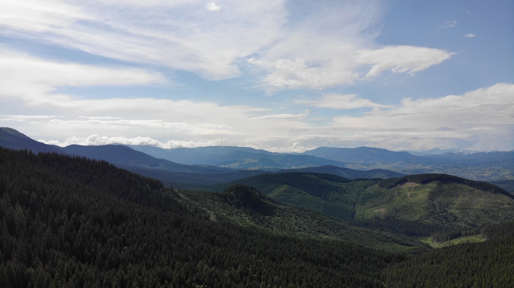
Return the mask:
<svg viewBox="0 0 514 288"><path fill-rule="evenodd" d="M473 227L514 219L511 194L492 184L444 174L381 181L361 194L356 219L417 221L438 227Z"/></svg>

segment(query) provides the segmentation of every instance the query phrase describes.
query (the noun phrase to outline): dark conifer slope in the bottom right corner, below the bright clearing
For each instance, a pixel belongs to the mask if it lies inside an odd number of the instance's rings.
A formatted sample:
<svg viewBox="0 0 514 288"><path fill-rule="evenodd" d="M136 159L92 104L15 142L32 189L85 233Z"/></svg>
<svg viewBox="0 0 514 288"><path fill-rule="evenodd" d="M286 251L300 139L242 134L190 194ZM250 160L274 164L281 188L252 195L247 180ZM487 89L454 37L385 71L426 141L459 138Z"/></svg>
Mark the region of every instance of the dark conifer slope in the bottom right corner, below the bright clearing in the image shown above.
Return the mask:
<svg viewBox="0 0 514 288"><path fill-rule="evenodd" d="M381 273L384 286L511 287L514 222L482 229L482 233L488 241L452 245L391 263Z"/></svg>

